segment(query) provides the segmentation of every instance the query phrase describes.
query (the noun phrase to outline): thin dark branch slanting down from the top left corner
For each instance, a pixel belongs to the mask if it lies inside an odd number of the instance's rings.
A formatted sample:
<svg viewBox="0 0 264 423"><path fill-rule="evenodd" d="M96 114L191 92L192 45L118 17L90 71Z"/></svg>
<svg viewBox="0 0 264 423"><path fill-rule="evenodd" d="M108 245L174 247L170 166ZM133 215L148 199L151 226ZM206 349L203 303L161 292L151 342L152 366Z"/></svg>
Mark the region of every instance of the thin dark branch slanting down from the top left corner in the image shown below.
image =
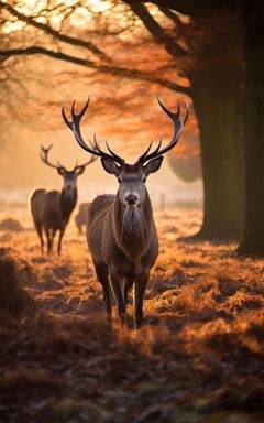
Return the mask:
<svg viewBox="0 0 264 423"><path fill-rule="evenodd" d="M0 9L8 10L12 15L16 17L21 21L26 22L28 24L44 31L45 33L54 36L55 39L57 39L64 43L85 47L85 48L91 51L98 57L105 58L105 59L107 58L106 53L103 53L100 48L98 48L94 43L91 43L89 41L82 41L82 40L79 40L79 39L76 39L76 37L73 37L69 35L61 34L61 32L55 31L53 28L48 26L47 24L45 24L43 22L37 22L34 19L32 19L31 17L26 17L26 15L18 12L18 10L12 8L8 3L3 3L2 1L0 1Z"/></svg>

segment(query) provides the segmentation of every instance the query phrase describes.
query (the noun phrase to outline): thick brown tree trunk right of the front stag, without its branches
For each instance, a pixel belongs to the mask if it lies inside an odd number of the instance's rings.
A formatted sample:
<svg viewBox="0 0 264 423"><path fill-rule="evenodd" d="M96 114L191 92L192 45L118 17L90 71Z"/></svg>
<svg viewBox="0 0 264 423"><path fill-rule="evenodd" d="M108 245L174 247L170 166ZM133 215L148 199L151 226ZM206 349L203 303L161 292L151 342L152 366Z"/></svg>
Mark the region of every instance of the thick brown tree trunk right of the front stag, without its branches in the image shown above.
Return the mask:
<svg viewBox="0 0 264 423"><path fill-rule="evenodd" d="M219 26L219 22L221 25ZM191 28L191 23L190 23ZM243 56L234 13L193 19L194 67L187 68L200 130L204 223L198 238L241 238L244 215ZM210 40L210 42L208 42Z"/></svg>

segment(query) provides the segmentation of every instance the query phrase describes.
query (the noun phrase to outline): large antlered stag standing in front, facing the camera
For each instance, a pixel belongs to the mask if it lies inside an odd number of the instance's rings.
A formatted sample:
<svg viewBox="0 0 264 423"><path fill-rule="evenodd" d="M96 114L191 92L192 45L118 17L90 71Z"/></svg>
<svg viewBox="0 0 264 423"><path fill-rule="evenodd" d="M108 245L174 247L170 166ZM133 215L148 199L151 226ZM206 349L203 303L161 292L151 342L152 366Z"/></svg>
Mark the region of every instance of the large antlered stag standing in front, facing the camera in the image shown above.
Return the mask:
<svg viewBox="0 0 264 423"><path fill-rule="evenodd" d="M153 218L151 199L145 186L147 176L156 172L162 164L163 154L172 150L188 120L189 108L180 120L180 108L176 113L169 111L158 99L162 109L174 123L172 141L163 149L162 138L151 152L152 143L134 164L114 153L106 142L108 152L95 142L88 145L81 135L80 120L89 106L89 100L77 115L75 102L72 107L72 121L62 109L64 120L74 132L78 144L88 153L101 158L106 172L117 176L117 195L99 195L88 209L87 241L92 256L97 278L103 289L107 319L112 321L111 293L114 294L121 326L125 323L129 290L134 285L134 322L139 328L143 317L143 299L158 253L158 239ZM109 279L110 276L110 279Z"/></svg>

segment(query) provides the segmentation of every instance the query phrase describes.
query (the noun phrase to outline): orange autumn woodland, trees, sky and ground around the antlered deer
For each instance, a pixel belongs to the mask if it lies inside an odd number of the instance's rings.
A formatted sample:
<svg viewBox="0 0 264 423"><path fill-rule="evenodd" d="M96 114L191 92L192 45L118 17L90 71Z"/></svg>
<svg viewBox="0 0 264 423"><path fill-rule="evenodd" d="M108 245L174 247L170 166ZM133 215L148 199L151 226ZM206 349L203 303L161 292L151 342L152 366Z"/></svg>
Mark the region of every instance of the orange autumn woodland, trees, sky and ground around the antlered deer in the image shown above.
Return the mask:
<svg viewBox="0 0 264 423"><path fill-rule="evenodd" d="M0 215L20 221L0 235L0 419L261 422L262 1L29 0L0 11ZM86 160L61 106L88 94L87 139L96 131L129 161L170 137L156 96L191 105L150 180L161 253L138 337L105 326L85 237L72 224L62 258L42 258L26 212L30 189L59 183L40 142L69 166ZM91 167L82 199L117 188Z"/></svg>

